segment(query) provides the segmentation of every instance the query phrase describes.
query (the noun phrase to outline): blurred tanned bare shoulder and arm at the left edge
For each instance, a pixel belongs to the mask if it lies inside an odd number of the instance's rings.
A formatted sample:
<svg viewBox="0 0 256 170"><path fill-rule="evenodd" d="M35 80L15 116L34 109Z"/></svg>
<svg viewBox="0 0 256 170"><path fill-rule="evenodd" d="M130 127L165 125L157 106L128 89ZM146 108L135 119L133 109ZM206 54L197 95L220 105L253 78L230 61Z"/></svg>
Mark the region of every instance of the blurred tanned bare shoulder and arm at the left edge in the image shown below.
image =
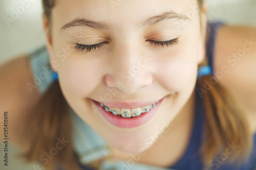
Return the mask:
<svg viewBox="0 0 256 170"><path fill-rule="evenodd" d="M1 65L0 79L1 112L8 111L9 138L15 144L21 144L20 138L25 136L19 136L20 130L22 130L20 127L23 126L26 115L40 98L37 90L31 92L27 86L27 83L33 83L28 55L18 56ZM3 118L3 114L1 114L0 119ZM3 128L3 126L0 123L0 127ZM22 134L24 135L24 133Z"/></svg>

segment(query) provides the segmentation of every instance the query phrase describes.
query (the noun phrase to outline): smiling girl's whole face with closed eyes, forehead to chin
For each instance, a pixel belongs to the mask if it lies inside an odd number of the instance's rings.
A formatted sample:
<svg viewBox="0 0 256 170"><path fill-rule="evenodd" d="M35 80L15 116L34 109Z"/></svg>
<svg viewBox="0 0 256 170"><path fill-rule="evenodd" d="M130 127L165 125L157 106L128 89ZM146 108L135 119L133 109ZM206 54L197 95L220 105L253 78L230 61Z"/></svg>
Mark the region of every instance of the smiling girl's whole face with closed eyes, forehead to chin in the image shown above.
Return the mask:
<svg viewBox="0 0 256 170"><path fill-rule="evenodd" d="M148 137L163 133L191 96L204 57L196 0L60 0L51 31L50 61L67 102L125 152L142 152L156 140ZM134 118L93 102L130 113L159 100Z"/></svg>

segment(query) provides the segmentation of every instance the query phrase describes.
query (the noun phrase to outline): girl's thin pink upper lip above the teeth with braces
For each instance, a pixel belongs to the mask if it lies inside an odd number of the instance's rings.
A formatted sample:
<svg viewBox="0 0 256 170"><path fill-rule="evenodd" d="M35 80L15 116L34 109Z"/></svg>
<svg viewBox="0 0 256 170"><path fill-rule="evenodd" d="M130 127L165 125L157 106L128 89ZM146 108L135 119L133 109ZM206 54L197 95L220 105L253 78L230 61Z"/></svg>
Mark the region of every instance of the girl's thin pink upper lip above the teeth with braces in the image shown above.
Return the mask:
<svg viewBox="0 0 256 170"><path fill-rule="evenodd" d="M162 99L160 99L160 100L162 100ZM126 103L126 102L99 102L99 103L102 103L106 107L133 109L133 108L139 108L139 107L143 107L143 106L153 105L160 100L145 101L145 102L131 102L131 103Z"/></svg>

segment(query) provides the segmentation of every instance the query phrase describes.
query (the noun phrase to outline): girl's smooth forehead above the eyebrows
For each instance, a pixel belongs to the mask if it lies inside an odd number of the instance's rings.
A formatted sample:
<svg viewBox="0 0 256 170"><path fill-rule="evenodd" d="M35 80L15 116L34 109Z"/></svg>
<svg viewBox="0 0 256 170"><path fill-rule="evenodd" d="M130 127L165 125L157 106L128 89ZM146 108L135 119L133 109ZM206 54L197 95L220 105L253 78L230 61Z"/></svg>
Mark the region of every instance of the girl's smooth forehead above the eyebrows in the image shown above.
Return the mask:
<svg viewBox="0 0 256 170"><path fill-rule="evenodd" d="M136 25L160 13L174 11L186 15L197 6L196 0L58 0L53 9L53 23L63 27L75 18L109 23L111 26Z"/></svg>

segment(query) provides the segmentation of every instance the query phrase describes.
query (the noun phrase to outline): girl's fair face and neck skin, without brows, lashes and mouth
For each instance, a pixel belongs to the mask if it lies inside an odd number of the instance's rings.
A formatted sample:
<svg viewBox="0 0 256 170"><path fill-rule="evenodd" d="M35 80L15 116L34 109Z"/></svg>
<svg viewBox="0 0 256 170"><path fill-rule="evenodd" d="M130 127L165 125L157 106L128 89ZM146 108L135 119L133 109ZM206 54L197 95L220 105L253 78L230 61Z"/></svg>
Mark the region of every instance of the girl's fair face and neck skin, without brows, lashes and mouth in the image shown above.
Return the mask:
<svg viewBox="0 0 256 170"><path fill-rule="evenodd" d="M174 163L186 148L193 123L197 69L204 58L205 14L201 16L202 28L196 14L179 31L174 21L138 29L136 22L162 12L174 10L187 14L197 1L125 1L115 10L108 1L76 2L63 0L57 3L52 11L51 28L47 27L48 21L44 17L50 63L58 72L65 99L84 122L105 138L113 157L129 159L130 153L140 153L138 162L158 166ZM61 30L77 17L105 22L110 29L74 27ZM167 41L177 37L179 43L169 47L154 46L146 41ZM76 43L100 42L108 43L91 52L74 50ZM64 48L70 50L65 52ZM66 53L66 57L61 56L61 52ZM146 56L148 63L134 79L127 81L122 75L138 65L141 56ZM117 86L118 82L122 88ZM109 93L108 89L117 91L111 101L129 103L166 98L148 122L123 129L113 126L93 109L91 99L99 101L99 96L104 98ZM172 126L161 134L164 123ZM161 138L153 137L148 142L148 138L157 133ZM168 150L166 145L170 146ZM156 154L161 156L156 158Z"/></svg>

